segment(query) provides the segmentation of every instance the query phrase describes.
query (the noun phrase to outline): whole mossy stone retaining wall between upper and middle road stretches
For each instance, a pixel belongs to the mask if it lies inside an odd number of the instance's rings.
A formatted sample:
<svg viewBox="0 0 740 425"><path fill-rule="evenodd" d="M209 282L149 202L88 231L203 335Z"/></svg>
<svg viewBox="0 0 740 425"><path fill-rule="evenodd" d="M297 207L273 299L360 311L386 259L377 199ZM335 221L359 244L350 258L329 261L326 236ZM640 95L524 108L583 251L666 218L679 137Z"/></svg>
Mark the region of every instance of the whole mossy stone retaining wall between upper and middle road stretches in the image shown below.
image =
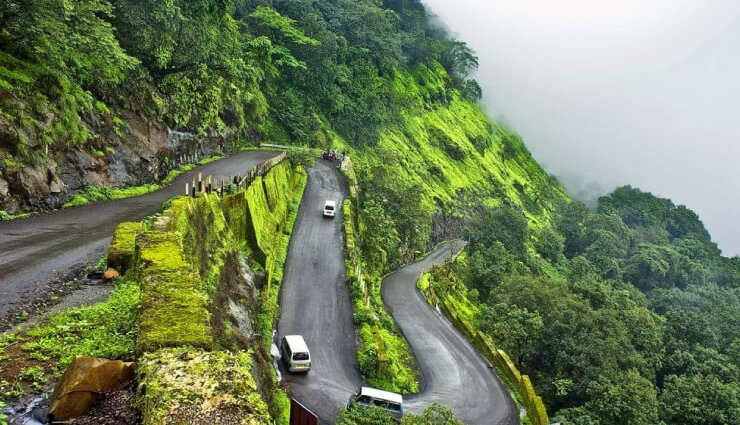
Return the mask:
<svg viewBox="0 0 740 425"><path fill-rule="evenodd" d="M177 198L158 219L157 230L136 238L142 293L139 402L145 424L195 418L272 423L264 400L272 397L274 383L260 378L266 391L260 394L252 375L254 359L269 354L220 351L214 340L214 334L223 334L216 309L228 291L223 282L240 272L234 260L240 252L254 255L268 282L273 278L276 259L287 250L288 205L302 175L281 163L234 195ZM214 411L219 414L212 416Z"/></svg>

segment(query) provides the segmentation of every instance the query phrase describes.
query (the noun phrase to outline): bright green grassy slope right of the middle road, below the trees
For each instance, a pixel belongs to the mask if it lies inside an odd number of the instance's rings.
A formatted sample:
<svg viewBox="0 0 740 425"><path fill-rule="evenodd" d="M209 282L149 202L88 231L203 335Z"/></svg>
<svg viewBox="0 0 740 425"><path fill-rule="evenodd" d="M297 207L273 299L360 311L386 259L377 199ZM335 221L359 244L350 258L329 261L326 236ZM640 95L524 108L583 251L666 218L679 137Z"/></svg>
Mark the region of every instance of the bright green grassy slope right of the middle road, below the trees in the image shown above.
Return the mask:
<svg viewBox="0 0 740 425"><path fill-rule="evenodd" d="M359 238L366 260L377 263L371 268L387 271L459 236L464 219L482 208L511 206L529 227L549 227L552 211L570 198L518 136L462 97L440 65L394 75L403 105L396 125L359 147L334 134L357 169L360 226L375 229Z"/></svg>

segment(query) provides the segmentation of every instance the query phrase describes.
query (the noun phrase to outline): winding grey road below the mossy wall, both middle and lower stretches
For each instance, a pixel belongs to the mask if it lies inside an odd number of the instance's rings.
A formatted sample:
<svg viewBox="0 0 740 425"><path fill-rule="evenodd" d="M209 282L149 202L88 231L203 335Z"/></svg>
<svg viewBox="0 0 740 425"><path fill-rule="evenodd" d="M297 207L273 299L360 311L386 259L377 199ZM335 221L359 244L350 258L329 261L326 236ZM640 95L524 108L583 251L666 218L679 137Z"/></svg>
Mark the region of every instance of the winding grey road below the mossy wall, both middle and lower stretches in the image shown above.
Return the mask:
<svg viewBox="0 0 740 425"><path fill-rule="evenodd" d="M334 423L353 391L362 385L352 302L345 284L342 217L322 217L326 200L346 197L341 174L317 161L298 211L285 263L277 337L300 334L311 350L311 371L283 376L292 394L323 423ZM340 210L341 212L341 210ZM450 406L470 425L518 423L518 411L482 356L416 290L430 266L442 264L461 243L442 244L432 254L388 276L383 299L414 351L425 379L422 393L406 396L408 412L431 403Z"/></svg>

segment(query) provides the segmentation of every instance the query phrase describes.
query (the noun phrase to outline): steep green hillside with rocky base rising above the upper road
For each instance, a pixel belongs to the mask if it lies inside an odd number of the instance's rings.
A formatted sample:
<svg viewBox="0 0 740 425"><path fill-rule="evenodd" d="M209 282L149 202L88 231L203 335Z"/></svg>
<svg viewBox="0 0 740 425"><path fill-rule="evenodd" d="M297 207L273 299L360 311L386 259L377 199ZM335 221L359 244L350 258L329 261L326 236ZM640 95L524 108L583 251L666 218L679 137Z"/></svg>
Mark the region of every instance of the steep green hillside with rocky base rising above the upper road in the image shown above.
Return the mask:
<svg viewBox="0 0 740 425"><path fill-rule="evenodd" d="M474 104L475 56L418 1L0 7L9 214L59 207L90 186L157 182L260 139L346 149L370 164L365 180L376 164L408 173L425 210L449 213L479 187L476 199L505 197L538 220L564 196Z"/></svg>

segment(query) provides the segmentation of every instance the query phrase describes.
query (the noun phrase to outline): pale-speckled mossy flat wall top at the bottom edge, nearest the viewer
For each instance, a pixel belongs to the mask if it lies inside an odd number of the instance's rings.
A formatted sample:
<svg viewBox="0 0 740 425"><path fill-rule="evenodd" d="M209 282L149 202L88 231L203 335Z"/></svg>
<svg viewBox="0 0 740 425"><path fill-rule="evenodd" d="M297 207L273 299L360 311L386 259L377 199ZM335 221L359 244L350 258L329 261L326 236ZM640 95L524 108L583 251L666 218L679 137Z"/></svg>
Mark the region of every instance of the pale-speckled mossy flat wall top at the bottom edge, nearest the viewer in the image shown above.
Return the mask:
<svg viewBox="0 0 740 425"><path fill-rule="evenodd" d="M252 376L251 352L164 349L139 361L144 425L271 424Z"/></svg>

